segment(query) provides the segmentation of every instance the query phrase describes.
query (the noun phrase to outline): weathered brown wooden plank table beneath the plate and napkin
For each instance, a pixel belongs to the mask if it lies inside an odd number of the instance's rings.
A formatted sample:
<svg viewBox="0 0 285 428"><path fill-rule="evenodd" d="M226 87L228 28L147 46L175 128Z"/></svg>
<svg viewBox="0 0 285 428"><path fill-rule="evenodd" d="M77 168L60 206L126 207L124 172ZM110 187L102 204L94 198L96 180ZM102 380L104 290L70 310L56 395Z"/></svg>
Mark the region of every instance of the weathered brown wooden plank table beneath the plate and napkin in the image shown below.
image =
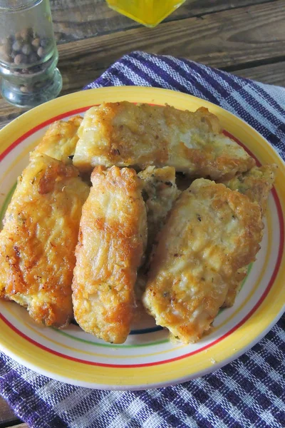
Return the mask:
<svg viewBox="0 0 285 428"><path fill-rule="evenodd" d="M80 90L123 54L182 56L238 76L285 86L284 0L187 0L155 29L104 0L51 0L62 94ZM0 126L21 114L0 98ZM0 428L27 428L0 399Z"/></svg>

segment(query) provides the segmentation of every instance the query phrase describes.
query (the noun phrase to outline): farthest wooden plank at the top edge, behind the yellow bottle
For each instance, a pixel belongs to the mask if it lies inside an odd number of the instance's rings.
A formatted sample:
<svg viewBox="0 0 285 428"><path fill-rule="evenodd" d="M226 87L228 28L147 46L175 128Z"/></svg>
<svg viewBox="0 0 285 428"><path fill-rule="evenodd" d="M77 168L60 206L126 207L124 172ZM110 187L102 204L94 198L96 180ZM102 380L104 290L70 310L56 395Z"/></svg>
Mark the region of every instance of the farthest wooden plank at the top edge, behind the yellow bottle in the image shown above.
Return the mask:
<svg viewBox="0 0 285 428"><path fill-rule="evenodd" d="M165 21L175 21L274 1L276 0L187 0ZM105 0L51 0L51 11L58 43L140 26L137 22L110 9Z"/></svg>

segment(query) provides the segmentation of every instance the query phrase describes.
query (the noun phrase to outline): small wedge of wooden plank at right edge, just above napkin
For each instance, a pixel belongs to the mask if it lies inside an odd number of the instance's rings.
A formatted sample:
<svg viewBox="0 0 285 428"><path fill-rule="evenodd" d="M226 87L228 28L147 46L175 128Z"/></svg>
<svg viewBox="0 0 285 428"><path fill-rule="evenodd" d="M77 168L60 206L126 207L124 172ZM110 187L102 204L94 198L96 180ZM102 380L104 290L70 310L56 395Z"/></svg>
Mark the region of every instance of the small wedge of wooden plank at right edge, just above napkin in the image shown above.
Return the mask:
<svg viewBox="0 0 285 428"><path fill-rule="evenodd" d="M265 64L264 66L246 68L234 71L237 76L252 78L261 83L285 86L285 61L276 64Z"/></svg>

